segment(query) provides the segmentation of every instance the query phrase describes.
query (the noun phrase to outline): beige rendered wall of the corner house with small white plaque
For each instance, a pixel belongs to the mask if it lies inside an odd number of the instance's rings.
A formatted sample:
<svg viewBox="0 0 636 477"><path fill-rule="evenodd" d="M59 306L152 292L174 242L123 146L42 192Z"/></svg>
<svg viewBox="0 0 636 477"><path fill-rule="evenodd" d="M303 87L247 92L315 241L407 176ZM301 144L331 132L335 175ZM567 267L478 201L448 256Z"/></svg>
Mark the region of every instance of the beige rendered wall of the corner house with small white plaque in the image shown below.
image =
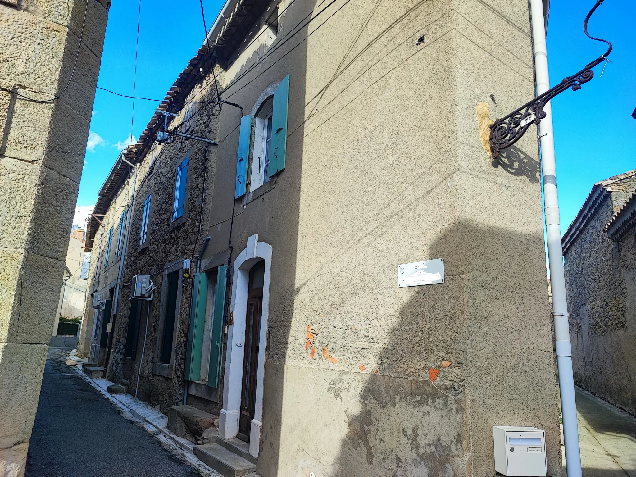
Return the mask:
<svg viewBox="0 0 636 477"><path fill-rule="evenodd" d="M261 66L248 49L221 75L250 111L290 74L286 169L232 224L234 258L254 233L273 249L259 473L492 476L492 425L532 425L560 475L536 141L493 167L475 114L534 94L527 3L357 0L273 50L322 8L291 4ZM239 120L219 121L210 266ZM397 288L432 258L445 284Z"/></svg>

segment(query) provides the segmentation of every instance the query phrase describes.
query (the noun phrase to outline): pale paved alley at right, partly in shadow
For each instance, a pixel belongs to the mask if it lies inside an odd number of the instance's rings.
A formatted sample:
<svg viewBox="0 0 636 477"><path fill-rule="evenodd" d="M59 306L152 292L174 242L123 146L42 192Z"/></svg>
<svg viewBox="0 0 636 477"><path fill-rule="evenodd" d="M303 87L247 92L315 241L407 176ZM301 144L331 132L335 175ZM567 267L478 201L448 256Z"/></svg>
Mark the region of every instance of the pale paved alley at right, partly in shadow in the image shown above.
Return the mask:
<svg viewBox="0 0 636 477"><path fill-rule="evenodd" d="M636 477L636 418L579 388L576 408L583 477Z"/></svg>

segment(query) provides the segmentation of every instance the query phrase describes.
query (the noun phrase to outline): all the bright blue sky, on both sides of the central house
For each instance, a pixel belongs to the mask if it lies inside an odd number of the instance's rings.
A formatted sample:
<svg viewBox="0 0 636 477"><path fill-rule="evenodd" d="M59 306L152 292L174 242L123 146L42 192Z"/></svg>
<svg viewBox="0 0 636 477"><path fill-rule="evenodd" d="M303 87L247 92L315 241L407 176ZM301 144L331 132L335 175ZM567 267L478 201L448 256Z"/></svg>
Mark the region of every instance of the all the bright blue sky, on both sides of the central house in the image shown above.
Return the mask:
<svg viewBox="0 0 636 477"><path fill-rule="evenodd" d="M204 0L210 27L223 4ZM548 26L550 81L555 85L605 52L604 43L583 34L583 18L592 0L552 0ZM137 34L134 1L111 6L98 85L132 94ZM552 101L556 168L562 232L578 212L593 183L636 169L636 3L607 0L593 15L592 36L614 45L613 63L595 69L582 90L568 90ZM204 39L197 0L142 0L137 60L137 96L162 99ZM134 137L139 137L158 103L135 101ZM79 184L78 205L93 205L118 148L130 136L132 100L97 90L90 125L89 148Z"/></svg>

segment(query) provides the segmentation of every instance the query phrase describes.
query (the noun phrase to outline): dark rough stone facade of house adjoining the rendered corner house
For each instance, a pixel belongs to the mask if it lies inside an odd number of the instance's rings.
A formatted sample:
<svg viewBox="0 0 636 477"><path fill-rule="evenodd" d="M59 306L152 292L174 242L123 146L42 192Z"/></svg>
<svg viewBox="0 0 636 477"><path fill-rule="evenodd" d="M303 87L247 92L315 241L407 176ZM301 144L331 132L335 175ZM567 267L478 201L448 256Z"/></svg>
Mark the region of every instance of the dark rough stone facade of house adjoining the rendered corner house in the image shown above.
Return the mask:
<svg viewBox="0 0 636 477"><path fill-rule="evenodd" d="M203 82L203 81L202 81ZM197 101L214 99L213 88L202 88L202 83L192 94L197 94ZM209 86L209 85L208 85ZM189 121L188 134L217 139L218 111L208 105L198 105L195 114ZM174 118L172 127L184 120L184 110ZM183 129L183 128L182 128ZM130 394L135 394L137 373L141 362L139 391L137 397L154 405L159 405L163 413L170 406L183 402L184 363L186 343L188 339L188 321L190 318L190 298L193 274L196 270L196 256L200 251L209 224L209 202L205 197L212 193L216 166L216 147L193 139L177 137L171 144L157 144L139 165L139 179L135 193L135 205L130 224L128 250L123 269L118 316L113 328L113 352L107 377L113 382L123 384ZM206 153L207 149L207 153ZM205 158L205 197L203 195ZM172 222L172 206L177 165L184 158L188 163L188 181L186 184L186 205L183 218ZM139 244L141 219L144 200L151 194L148 238L143 245ZM203 208L203 213L201 214ZM201 221L199 233L199 223ZM198 239L197 239L198 237ZM174 346L174 363L172 377L156 374L153 369L157 361L157 341L161 340L160 308L162 302L163 269L165 266L191 259L190 278L184 277L181 287L181 305L177 309L176 326L178 328ZM139 324L139 338L135 359L124 357L124 347L128 333L128 316L130 313L130 282L137 274L151 274L156 285L154 299L144 303ZM149 306L148 337L141 357L146 333L146 316ZM211 403L199 403L199 407L214 411ZM218 409L216 409L218 412Z"/></svg>

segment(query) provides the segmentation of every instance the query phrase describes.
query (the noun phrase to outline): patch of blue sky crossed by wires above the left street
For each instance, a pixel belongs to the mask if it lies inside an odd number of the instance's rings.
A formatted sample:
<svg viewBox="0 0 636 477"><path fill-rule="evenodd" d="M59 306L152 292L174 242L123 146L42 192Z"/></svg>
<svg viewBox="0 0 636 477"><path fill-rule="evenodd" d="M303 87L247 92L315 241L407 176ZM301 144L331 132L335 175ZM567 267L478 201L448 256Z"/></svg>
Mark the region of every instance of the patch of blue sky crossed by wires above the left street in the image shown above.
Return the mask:
<svg viewBox="0 0 636 477"><path fill-rule="evenodd" d="M204 0L209 28L224 0ZM132 95L137 36L137 1L114 1L109 11L98 86ZM142 0L135 95L163 99L205 37L198 0ZM158 102L135 100L135 139ZM79 206L93 205L119 151L128 144L132 99L97 90L88 148L79 184Z"/></svg>

